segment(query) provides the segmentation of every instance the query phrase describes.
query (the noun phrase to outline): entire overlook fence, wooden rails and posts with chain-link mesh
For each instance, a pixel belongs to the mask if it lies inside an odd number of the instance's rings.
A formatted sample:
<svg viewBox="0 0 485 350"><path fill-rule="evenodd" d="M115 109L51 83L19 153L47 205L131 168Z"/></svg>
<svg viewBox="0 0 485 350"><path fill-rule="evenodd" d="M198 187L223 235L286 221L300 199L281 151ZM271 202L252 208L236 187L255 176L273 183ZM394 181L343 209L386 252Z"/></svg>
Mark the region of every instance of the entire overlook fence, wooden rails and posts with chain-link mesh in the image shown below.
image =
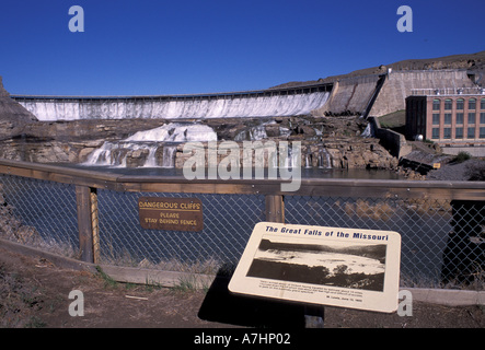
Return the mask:
<svg viewBox="0 0 485 350"><path fill-rule="evenodd" d="M254 225L270 221L396 231L402 287L483 288L480 182L303 178L284 192L277 179L188 180L15 161L0 161L0 238L83 261L215 273L235 266ZM146 228L139 203L147 198L198 203L201 221L189 223L198 229Z"/></svg>

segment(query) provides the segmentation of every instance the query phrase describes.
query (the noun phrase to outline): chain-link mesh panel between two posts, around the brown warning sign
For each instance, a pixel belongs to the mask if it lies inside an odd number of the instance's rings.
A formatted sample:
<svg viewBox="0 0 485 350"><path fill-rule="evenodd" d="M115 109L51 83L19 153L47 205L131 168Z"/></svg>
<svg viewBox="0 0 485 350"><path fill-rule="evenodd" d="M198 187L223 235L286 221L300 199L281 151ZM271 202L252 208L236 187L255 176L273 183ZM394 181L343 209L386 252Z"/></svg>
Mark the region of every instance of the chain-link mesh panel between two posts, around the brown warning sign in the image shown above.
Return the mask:
<svg viewBox="0 0 485 350"><path fill-rule="evenodd" d="M204 230L142 229L136 209L140 197L200 199ZM264 196L99 190L97 202L101 260L178 271L217 272L236 262L254 225L265 219Z"/></svg>

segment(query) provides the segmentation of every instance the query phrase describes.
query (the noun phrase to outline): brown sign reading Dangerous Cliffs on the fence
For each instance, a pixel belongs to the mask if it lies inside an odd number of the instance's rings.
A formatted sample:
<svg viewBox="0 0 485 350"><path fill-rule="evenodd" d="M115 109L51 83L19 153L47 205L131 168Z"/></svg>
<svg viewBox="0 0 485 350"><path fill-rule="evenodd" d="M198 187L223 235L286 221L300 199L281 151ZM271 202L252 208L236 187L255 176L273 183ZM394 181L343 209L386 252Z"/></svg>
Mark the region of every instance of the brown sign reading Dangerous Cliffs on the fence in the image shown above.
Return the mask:
<svg viewBox="0 0 485 350"><path fill-rule="evenodd" d="M143 229L171 231L203 231L203 202L198 198L138 199L140 224Z"/></svg>

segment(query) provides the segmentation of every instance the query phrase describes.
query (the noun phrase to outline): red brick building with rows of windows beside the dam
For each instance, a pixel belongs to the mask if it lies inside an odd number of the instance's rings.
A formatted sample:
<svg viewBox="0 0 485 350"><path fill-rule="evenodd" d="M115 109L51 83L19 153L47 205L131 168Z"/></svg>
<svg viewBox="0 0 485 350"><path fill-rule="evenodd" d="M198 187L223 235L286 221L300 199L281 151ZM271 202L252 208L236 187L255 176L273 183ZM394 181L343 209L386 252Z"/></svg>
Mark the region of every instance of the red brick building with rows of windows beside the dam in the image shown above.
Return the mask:
<svg viewBox="0 0 485 350"><path fill-rule="evenodd" d="M485 90L418 90L406 97L406 138L431 140L446 153L485 156Z"/></svg>

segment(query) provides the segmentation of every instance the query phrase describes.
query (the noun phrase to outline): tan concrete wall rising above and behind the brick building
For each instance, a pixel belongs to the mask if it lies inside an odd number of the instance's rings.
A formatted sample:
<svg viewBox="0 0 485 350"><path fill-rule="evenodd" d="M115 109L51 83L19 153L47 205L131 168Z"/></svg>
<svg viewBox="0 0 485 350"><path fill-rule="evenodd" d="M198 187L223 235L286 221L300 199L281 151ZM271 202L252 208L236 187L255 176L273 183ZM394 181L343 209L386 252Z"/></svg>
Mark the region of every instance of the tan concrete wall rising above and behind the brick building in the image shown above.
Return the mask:
<svg viewBox="0 0 485 350"><path fill-rule="evenodd" d="M406 108L413 89L474 88L465 70L392 71L377 97L370 115L383 116Z"/></svg>

